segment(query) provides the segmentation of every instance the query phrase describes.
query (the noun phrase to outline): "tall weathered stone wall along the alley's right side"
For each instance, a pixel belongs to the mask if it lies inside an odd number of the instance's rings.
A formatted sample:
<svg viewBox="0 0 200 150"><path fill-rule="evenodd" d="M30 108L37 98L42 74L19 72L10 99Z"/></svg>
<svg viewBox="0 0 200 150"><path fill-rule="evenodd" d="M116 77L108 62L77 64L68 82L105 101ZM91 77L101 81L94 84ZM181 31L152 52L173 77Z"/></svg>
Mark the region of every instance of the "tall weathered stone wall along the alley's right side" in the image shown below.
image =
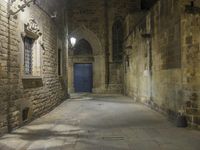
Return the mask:
<svg viewBox="0 0 200 150"><path fill-rule="evenodd" d="M198 108L200 101L199 3L195 13L185 5L190 2L158 1L130 27L125 44L125 93L169 115L187 101Z"/></svg>

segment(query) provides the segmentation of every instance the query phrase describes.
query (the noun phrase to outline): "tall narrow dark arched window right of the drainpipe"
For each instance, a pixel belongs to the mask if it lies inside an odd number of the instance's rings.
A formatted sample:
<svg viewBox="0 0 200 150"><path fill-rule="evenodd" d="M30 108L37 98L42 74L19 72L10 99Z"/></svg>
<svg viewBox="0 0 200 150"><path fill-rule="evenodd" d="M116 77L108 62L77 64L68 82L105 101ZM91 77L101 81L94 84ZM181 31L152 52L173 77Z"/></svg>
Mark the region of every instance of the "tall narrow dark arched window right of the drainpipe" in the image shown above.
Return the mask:
<svg viewBox="0 0 200 150"><path fill-rule="evenodd" d="M114 62L122 62L123 54L123 25L117 20L112 27L112 54Z"/></svg>

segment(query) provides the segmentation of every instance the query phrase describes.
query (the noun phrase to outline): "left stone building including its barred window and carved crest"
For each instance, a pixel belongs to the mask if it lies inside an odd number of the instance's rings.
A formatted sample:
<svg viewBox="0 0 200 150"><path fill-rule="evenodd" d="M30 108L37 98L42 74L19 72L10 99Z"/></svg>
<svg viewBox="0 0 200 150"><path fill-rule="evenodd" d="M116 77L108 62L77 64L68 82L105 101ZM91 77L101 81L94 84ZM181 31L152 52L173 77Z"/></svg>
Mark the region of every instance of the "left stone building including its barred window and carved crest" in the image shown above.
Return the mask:
<svg viewBox="0 0 200 150"><path fill-rule="evenodd" d="M58 20L58 28L48 13L56 11L51 2L36 2L24 13L15 13L18 3L1 0L1 133L39 117L67 98L64 20ZM65 12L64 8L59 11Z"/></svg>

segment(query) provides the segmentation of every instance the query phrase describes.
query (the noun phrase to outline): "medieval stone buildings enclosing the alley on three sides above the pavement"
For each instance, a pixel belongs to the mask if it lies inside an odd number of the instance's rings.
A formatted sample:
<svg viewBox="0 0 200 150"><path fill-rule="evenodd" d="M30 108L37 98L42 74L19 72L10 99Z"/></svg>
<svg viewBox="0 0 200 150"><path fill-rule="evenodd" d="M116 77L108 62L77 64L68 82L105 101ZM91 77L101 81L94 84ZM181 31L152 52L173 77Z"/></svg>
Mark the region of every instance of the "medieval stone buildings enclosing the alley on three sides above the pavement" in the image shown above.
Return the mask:
<svg viewBox="0 0 200 150"><path fill-rule="evenodd" d="M0 0L0 135L82 92L199 128L199 66L199 0Z"/></svg>

